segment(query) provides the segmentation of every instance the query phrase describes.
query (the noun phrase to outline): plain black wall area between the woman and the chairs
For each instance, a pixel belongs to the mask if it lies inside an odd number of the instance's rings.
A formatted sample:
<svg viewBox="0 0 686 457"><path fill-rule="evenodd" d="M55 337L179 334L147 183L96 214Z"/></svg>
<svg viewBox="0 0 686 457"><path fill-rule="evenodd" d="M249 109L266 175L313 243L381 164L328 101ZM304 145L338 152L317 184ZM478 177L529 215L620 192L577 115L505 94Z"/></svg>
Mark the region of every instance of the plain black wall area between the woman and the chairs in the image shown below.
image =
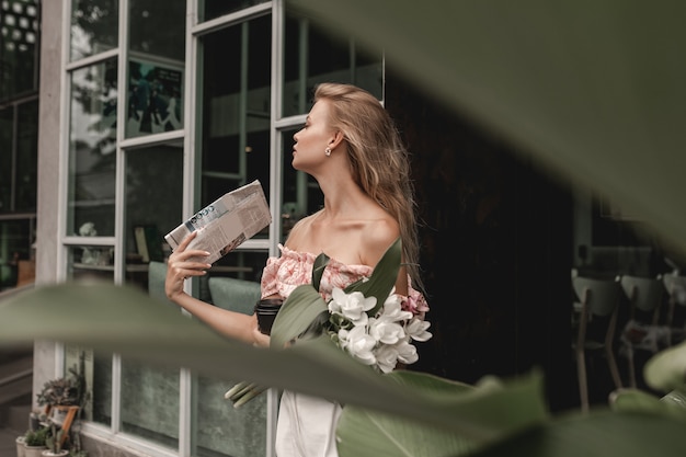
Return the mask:
<svg viewBox="0 0 686 457"><path fill-rule="evenodd" d="M413 369L475 382L545 370L578 402L570 349L570 192L526 155L398 76L386 106L412 155L434 338Z"/></svg>

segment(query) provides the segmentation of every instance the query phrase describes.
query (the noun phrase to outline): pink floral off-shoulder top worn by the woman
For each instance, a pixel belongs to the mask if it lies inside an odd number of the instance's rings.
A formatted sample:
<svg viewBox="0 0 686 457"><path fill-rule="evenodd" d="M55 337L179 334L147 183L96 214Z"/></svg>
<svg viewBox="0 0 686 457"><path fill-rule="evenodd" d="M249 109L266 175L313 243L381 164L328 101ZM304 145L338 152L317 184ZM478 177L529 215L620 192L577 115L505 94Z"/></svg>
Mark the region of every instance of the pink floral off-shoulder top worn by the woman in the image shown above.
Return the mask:
<svg viewBox="0 0 686 457"><path fill-rule="evenodd" d="M309 252L298 252L279 244L282 255L270 258L262 272L262 297L278 295L288 298L290 293L302 284L312 282L312 266L317 255ZM335 259L330 259L321 277L319 292L324 301L331 299L334 287L345 288L350 284L369 277L374 269L368 265L346 265ZM410 285L408 276L409 297L403 302L403 308L415 315L423 315L428 310L424 297Z"/></svg>

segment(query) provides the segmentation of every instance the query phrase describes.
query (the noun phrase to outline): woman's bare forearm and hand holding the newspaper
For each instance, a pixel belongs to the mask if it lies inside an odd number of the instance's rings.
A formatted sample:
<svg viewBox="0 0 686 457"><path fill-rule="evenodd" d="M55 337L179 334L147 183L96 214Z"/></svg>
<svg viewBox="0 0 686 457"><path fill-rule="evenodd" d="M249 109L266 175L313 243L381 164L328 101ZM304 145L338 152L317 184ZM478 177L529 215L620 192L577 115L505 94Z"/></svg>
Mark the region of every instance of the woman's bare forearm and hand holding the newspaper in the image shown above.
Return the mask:
<svg viewBox="0 0 686 457"><path fill-rule="evenodd" d="M258 319L254 315L248 316L216 307L190 296L184 290L183 283L186 278L204 276L211 266L208 263L188 260L209 255L208 252L201 250L186 250L195 236L196 232L188 235L169 256L164 278L167 297L226 336L259 346L268 346L270 338L258 330Z"/></svg>

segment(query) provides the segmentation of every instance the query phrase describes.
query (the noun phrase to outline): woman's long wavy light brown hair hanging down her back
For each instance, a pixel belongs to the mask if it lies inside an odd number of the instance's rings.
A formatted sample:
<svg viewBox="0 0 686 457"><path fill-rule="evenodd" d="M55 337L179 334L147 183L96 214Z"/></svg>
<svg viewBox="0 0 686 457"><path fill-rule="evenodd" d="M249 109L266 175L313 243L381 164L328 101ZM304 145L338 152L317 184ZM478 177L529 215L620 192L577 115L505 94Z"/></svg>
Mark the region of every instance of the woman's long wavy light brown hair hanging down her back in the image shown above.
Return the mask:
<svg viewBox="0 0 686 457"><path fill-rule="evenodd" d="M355 85L320 83L315 102L322 99L331 102L329 125L347 142L353 179L398 221L405 267L413 285L422 287L414 188L396 124L376 96Z"/></svg>

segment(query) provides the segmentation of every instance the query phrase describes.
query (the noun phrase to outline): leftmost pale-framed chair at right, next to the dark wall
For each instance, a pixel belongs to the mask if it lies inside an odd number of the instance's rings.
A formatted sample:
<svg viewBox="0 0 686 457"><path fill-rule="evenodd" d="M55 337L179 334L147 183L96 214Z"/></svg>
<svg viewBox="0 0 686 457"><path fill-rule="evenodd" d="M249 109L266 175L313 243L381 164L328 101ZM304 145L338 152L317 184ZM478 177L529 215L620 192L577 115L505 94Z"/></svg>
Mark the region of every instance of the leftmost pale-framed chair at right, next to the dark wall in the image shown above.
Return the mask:
<svg viewBox="0 0 686 457"><path fill-rule="evenodd" d="M621 388L619 369L615 359L613 344L617 327L620 288L617 279L598 279L585 276L572 276L572 286L579 298L580 318L576 339L572 342L576 358L579 376L579 395L581 408L588 410L588 380L586 378L586 354L602 352L615 386ZM602 338L596 339L590 333L590 325L599 325Z"/></svg>

